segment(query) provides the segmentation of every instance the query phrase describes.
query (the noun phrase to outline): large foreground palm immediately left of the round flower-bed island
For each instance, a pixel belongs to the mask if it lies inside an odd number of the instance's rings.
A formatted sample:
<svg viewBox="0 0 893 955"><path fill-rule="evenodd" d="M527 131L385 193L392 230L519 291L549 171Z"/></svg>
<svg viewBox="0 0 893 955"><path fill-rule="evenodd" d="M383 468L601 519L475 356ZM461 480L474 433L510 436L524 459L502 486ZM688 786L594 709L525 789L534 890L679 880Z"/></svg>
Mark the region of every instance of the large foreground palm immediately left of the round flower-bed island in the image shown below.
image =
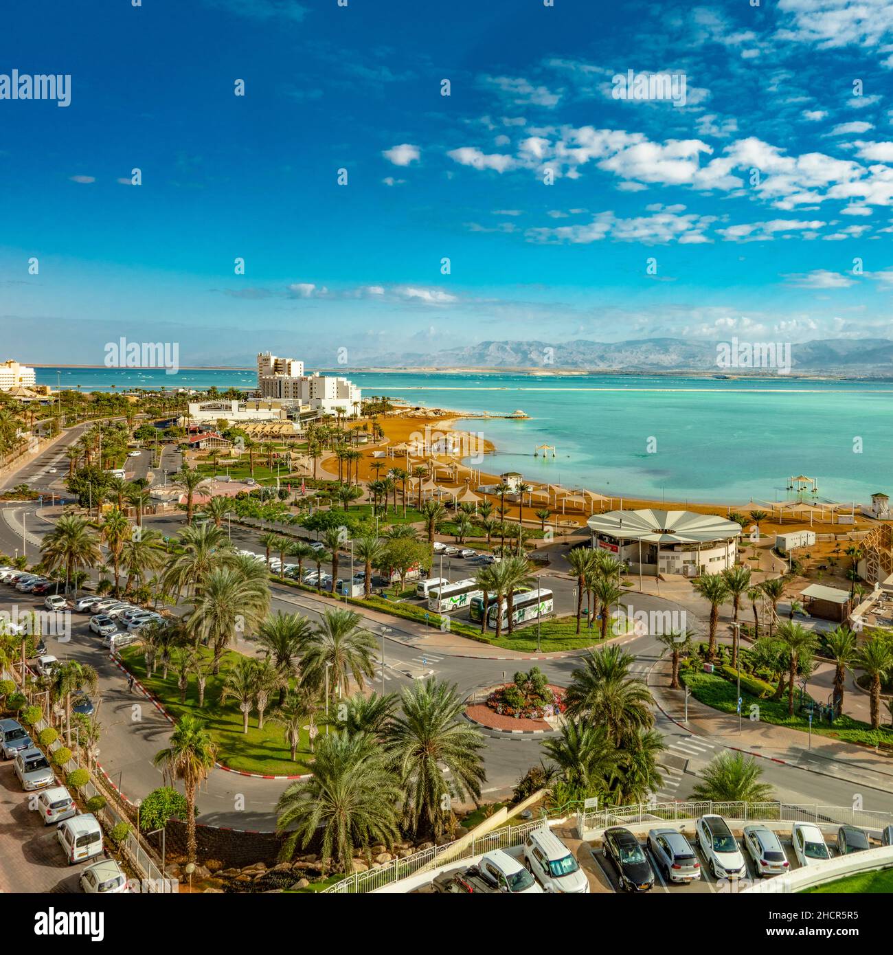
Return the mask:
<svg viewBox="0 0 893 955"><path fill-rule="evenodd" d="M403 690L401 702L387 748L403 792L403 816L412 832L439 837L452 818L445 796L480 797L486 779L480 756L483 736L464 719L465 704L455 685L429 678Z"/></svg>

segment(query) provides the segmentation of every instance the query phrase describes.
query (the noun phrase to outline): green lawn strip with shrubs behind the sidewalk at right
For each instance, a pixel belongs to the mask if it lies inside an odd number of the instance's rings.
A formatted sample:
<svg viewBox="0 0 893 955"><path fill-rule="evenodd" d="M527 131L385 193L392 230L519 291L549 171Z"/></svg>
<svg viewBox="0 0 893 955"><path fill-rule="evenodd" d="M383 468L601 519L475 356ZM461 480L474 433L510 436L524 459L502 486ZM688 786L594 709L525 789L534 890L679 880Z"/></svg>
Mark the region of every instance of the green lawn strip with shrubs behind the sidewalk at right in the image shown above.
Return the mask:
<svg viewBox="0 0 893 955"><path fill-rule="evenodd" d="M701 703L726 713L737 711L737 694L735 684L712 673L683 672L680 674L683 681L691 689L691 695ZM742 678L744 674L742 673ZM768 684L767 684L768 687ZM808 732L809 720L804 714L797 712L798 694L795 688L794 715L788 715L787 694L780 700L761 698L741 687L742 713L745 719L749 718L751 707L759 707L759 719L763 723L772 723L776 726L785 726L792 730ZM840 739L844 743L862 743L876 746L878 743L893 744L893 732L889 729L872 730L867 723L841 716L833 724L820 723L818 717L813 718L813 732L821 736L830 736Z"/></svg>

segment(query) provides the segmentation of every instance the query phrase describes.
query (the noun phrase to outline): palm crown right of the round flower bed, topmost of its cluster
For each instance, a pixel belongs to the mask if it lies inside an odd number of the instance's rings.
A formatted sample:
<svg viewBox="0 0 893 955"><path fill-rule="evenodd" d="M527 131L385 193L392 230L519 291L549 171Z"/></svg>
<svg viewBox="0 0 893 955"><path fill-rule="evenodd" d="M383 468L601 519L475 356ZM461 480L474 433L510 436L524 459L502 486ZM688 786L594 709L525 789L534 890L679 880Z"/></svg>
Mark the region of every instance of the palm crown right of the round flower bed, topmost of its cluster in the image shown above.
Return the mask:
<svg viewBox="0 0 893 955"><path fill-rule="evenodd" d="M571 673L564 696L571 718L604 726L615 745L654 724L651 693L642 680L630 675L634 662L635 657L617 644L590 650L583 667Z"/></svg>

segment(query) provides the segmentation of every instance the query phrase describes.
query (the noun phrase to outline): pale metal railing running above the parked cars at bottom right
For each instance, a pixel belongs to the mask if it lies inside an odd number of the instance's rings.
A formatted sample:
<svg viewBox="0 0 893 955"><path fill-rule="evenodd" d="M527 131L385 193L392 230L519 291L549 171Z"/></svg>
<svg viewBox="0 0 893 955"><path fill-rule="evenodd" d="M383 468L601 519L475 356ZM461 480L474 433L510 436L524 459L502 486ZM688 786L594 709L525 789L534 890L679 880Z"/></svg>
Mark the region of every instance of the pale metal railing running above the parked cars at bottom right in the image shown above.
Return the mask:
<svg viewBox="0 0 893 955"><path fill-rule="evenodd" d="M647 822L681 822L701 816L723 816L735 822L816 822L819 825L850 825L866 829L882 829L893 824L893 813L876 813L846 806L798 805L789 802L649 802L606 809L587 809L577 814L577 830L586 832L607 829L609 826L636 825ZM564 814L561 814L564 817ZM546 817L547 818L547 817ZM552 817L555 820L556 817ZM460 863L494 849L509 849L521 845L527 834L542 826L544 818L525 822L520 826L505 826L475 838L465 846L461 855L447 860ZM409 879L426 868L433 868L441 857L449 856L456 842L424 849L405 859L393 859L379 868L355 872L330 885L324 892L352 894L373 892L392 882Z"/></svg>

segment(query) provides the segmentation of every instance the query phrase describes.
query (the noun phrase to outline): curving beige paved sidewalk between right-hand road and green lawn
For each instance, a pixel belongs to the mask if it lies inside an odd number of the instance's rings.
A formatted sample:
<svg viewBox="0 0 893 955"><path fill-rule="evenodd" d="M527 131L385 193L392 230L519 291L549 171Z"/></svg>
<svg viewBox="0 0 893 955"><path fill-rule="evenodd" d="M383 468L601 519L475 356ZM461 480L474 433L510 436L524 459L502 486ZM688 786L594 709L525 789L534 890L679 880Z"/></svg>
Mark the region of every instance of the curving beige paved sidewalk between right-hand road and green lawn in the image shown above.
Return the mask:
<svg viewBox="0 0 893 955"><path fill-rule="evenodd" d="M805 732L771 723L751 722L747 718L741 720L739 734L737 716L713 710L693 696L689 697L689 721L686 723L685 690L670 690L670 666L669 659L658 661L648 674L648 687L660 710L692 734L716 737L730 749L837 779L865 783L871 775L880 776L875 783L890 786L888 780L893 780L893 758L865 747L813 733L810 748Z"/></svg>

